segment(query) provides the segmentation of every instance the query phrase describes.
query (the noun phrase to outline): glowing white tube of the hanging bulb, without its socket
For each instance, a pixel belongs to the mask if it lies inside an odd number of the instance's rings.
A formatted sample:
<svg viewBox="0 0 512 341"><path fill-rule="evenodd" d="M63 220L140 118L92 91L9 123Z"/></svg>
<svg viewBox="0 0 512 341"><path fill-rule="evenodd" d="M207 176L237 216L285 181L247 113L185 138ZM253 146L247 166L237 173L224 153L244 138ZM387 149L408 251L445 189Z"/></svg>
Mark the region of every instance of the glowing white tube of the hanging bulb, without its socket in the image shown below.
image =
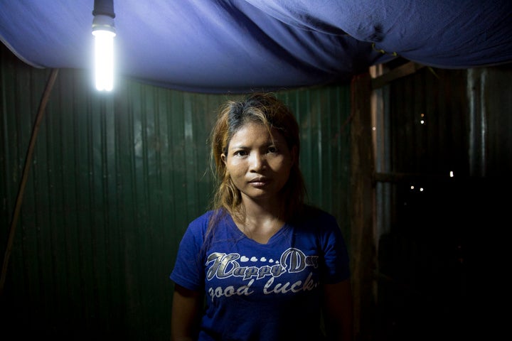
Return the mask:
<svg viewBox="0 0 512 341"><path fill-rule="evenodd" d="M92 31L95 36L96 89L112 91L114 87L114 36L106 30Z"/></svg>

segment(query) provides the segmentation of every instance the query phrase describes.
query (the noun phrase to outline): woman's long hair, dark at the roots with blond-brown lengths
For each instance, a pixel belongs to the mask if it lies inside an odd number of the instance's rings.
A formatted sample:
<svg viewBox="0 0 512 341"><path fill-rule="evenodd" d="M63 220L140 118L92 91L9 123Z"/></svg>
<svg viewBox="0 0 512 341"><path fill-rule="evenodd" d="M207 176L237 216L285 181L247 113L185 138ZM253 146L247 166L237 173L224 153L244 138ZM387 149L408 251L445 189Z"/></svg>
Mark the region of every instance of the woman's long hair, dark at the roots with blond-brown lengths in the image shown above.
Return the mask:
<svg viewBox="0 0 512 341"><path fill-rule="evenodd" d="M242 126L254 122L265 125L269 131L277 129L284 137L289 150L292 151L293 147L297 149L288 181L282 188L282 195L286 198L282 207L283 217L285 220L290 220L301 212L306 195L304 178L299 168L299 124L290 109L270 93L256 92L240 102L228 101L220 107L210 136L211 165L217 182L212 208L217 211L225 210L232 216L245 215L244 207L241 205L240 190L235 187L230 175L226 172L221 154L228 154L230 141Z"/></svg>

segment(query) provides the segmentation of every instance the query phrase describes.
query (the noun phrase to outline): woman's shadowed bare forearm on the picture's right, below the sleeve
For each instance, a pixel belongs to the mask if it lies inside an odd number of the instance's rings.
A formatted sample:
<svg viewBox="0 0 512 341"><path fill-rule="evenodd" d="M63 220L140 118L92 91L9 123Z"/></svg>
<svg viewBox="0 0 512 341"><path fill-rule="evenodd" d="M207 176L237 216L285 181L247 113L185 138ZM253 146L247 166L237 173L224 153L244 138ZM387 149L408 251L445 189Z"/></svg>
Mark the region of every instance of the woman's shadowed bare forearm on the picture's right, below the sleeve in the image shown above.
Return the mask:
<svg viewBox="0 0 512 341"><path fill-rule="evenodd" d="M327 340L353 340L353 303L350 280L324 285L324 323Z"/></svg>

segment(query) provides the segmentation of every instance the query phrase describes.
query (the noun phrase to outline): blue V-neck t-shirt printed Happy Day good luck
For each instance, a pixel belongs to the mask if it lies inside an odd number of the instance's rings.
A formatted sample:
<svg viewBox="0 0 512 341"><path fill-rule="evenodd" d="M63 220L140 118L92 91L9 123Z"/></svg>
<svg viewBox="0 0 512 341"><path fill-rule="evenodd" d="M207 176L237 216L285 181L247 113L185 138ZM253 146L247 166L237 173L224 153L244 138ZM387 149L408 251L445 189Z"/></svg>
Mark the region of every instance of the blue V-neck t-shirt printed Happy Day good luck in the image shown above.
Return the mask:
<svg viewBox="0 0 512 341"><path fill-rule="evenodd" d="M198 340L319 340L321 284L349 277L348 252L324 211L284 224L267 244L224 215L206 239L213 211L193 220L170 278L206 294Z"/></svg>

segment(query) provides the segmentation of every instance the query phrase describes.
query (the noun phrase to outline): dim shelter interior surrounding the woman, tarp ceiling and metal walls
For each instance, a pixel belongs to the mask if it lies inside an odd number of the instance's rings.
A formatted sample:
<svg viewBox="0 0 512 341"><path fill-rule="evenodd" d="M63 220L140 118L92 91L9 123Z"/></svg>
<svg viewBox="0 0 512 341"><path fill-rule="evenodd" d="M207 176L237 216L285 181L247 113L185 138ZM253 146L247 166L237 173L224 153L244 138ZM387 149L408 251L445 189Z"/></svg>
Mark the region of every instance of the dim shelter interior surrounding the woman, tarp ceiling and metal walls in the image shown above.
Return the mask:
<svg viewBox="0 0 512 341"><path fill-rule="evenodd" d="M512 1L0 0L0 40L1 340L169 340L208 132L255 91L346 236L355 340L501 335Z"/></svg>

